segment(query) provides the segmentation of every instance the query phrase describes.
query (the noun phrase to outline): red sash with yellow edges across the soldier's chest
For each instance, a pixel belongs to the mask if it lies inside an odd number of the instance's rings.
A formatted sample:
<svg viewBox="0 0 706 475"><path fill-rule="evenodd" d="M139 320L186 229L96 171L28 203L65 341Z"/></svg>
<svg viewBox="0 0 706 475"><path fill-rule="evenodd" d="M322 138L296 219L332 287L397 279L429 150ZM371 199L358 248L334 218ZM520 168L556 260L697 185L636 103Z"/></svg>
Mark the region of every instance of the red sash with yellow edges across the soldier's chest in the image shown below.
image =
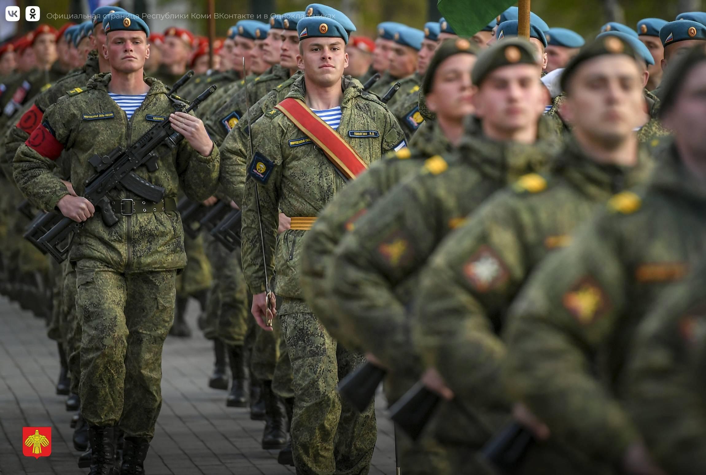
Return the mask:
<svg viewBox="0 0 706 475"><path fill-rule="evenodd" d="M360 155L333 128L326 124L304 104L288 97L275 106L292 121L300 131L323 150L326 158L348 179L354 179L368 169Z"/></svg>

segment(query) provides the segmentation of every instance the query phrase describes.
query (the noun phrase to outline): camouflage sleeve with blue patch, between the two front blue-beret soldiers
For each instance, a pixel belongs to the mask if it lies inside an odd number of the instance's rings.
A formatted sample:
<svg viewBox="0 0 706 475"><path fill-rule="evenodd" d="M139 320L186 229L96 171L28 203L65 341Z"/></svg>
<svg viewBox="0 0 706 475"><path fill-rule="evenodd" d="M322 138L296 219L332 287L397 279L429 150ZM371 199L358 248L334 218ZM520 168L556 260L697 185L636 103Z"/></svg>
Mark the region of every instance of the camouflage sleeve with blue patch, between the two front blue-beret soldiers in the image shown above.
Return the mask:
<svg viewBox="0 0 706 475"><path fill-rule="evenodd" d="M255 78L247 88L240 88L232 97L229 97L225 104L205 119L204 125L211 139L217 144L222 143L225 136L246 112L247 104L255 104L261 97L277 88L288 78L289 70L277 64Z"/></svg>

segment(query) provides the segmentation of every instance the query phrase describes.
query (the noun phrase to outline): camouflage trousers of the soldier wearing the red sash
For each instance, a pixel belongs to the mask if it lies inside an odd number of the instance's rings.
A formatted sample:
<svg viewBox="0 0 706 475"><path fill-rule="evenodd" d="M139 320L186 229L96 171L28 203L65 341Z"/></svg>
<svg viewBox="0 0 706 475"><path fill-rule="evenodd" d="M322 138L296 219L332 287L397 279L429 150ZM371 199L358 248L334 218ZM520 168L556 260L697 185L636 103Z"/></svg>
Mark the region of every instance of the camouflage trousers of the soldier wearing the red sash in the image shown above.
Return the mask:
<svg viewBox="0 0 706 475"><path fill-rule="evenodd" d="M278 318L294 376L297 474L367 474L377 439L374 404L360 414L336 392L363 356L338 345L304 301L282 299Z"/></svg>

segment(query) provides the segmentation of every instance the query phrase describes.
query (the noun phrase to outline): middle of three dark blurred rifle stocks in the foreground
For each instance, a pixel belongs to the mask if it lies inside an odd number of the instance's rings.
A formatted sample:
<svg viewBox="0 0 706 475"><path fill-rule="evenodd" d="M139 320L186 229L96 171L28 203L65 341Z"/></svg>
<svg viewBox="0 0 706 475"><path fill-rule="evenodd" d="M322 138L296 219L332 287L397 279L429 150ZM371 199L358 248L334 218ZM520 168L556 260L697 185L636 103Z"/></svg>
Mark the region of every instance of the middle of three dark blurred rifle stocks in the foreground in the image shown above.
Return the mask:
<svg viewBox="0 0 706 475"><path fill-rule="evenodd" d="M439 402L441 396L428 390L421 381L417 381L404 396L390 406L390 419L412 440L417 440Z"/></svg>

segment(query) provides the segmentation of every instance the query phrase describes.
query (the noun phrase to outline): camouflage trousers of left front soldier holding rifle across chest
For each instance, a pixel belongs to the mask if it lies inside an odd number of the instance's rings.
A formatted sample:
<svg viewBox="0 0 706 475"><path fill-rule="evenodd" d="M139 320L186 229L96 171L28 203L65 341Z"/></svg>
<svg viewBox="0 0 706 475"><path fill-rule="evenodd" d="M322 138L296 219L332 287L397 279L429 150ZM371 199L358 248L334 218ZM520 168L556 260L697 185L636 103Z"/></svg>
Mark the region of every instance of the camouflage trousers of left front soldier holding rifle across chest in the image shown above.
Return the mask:
<svg viewBox="0 0 706 475"><path fill-rule="evenodd" d="M175 270L124 274L95 260L76 263L81 413L89 425L154 435L175 279Z"/></svg>

